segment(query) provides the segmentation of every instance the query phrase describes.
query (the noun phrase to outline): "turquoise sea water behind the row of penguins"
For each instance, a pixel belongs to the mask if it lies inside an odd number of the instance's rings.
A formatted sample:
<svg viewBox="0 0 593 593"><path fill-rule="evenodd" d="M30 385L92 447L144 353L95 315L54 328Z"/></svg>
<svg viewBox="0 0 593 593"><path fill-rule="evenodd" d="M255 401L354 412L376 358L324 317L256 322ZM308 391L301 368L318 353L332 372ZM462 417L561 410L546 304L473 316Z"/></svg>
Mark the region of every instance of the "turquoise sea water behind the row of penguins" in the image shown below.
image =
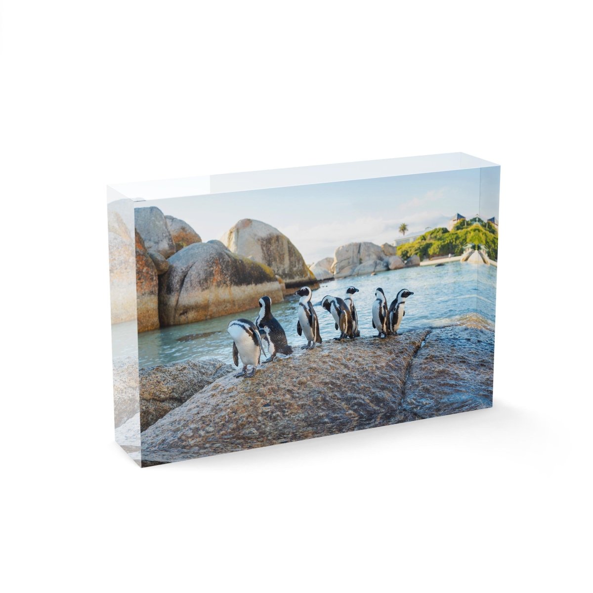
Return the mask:
<svg viewBox="0 0 593 593"><path fill-rule="evenodd" d="M459 323L471 320L476 314L492 326L495 322L496 268L454 262L438 267L412 267L375 276L323 282L313 292L313 304L324 340L337 337L339 332L334 329L331 315L321 307L321 299L327 294L344 298L350 285L359 289L354 295L354 302L361 336L377 334L372 328L371 308L378 286L384 290L388 304L402 288L414 292L407 299L406 317L401 322L400 333ZM297 334L297 312L298 297L288 297L281 303L272 304L272 313L282 324L288 343L293 347L306 343L304 337ZM258 313L259 308L256 308L198 323L145 331L138 336L140 366L212 357L232 364L232 341L227 334L229 321L239 317L254 321Z"/></svg>

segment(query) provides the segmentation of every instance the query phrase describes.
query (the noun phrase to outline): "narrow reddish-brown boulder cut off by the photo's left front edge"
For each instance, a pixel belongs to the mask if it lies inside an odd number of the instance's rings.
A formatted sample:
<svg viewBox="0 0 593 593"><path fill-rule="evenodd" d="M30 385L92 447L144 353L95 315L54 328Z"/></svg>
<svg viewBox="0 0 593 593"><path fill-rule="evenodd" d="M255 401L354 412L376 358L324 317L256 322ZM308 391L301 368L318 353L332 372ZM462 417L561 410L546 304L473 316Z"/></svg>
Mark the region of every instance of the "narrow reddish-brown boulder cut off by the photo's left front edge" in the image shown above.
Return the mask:
<svg viewBox="0 0 593 593"><path fill-rule="evenodd" d="M157 268L148 255L138 231L136 231L136 313L139 332L159 327Z"/></svg>

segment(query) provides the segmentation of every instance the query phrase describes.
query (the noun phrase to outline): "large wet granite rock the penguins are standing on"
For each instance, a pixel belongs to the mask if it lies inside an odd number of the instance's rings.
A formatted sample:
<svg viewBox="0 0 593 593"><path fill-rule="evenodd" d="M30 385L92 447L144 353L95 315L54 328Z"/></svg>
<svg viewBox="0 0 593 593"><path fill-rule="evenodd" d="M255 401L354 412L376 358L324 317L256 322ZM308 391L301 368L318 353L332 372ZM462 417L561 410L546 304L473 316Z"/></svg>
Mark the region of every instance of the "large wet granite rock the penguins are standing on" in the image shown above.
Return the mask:
<svg viewBox="0 0 593 593"><path fill-rule="evenodd" d="M324 342L260 367L253 380L230 374L208 385L142 433L142 463L489 407L492 358L493 335L465 327ZM345 380L349 366L356 381Z"/></svg>

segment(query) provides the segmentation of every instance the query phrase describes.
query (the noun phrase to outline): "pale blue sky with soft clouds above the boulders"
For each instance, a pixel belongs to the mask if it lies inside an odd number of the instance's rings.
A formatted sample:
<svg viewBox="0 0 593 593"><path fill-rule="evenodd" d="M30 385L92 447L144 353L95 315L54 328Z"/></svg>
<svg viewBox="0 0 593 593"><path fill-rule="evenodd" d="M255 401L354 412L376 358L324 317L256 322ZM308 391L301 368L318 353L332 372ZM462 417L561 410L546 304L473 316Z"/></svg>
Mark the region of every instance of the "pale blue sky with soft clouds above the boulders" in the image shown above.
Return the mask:
<svg viewBox="0 0 593 593"><path fill-rule="evenodd" d="M409 232L446 226L457 212L498 218L499 167L340 181L136 203L158 206L191 225L203 241L218 239L241 218L278 228L307 263L352 241L391 243ZM480 184L482 199L480 206Z"/></svg>

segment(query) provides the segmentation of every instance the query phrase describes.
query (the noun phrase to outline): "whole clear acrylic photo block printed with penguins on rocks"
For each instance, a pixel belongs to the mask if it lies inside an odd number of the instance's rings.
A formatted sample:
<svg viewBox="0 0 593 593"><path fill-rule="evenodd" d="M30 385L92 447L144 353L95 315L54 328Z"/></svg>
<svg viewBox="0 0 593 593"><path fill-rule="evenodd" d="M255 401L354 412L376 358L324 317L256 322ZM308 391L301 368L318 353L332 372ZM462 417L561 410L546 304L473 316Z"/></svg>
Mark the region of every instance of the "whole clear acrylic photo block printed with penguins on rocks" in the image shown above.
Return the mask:
<svg viewBox="0 0 593 593"><path fill-rule="evenodd" d="M500 167L462 153L107 188L140 466L492 406Z"/></svg>

